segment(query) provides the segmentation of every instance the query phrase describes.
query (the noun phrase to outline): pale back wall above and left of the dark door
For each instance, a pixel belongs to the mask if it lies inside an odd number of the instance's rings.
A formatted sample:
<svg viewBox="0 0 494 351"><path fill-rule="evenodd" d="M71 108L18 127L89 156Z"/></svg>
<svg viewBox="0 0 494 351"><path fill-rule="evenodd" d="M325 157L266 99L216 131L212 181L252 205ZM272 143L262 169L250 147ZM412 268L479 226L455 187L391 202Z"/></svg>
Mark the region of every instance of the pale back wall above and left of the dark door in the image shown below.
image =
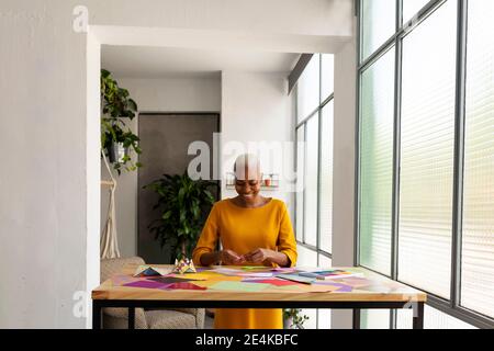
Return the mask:
<svg viewBox="0 0 494 351"><path fill-rule="evenodd" d="M128 89L139 112L220 112L221 77L212 78L160 78L138 79L114 77L119 86ZM138 135L138 116L125 121L133 133ZM135 157L135 155L134 155ZM122 257L137 254L137 172L115 171L115 215L119 248ZM101 163L102 179L110 179L106 167ZM101 225L106 220L108 188L101 188Z"/></svg>

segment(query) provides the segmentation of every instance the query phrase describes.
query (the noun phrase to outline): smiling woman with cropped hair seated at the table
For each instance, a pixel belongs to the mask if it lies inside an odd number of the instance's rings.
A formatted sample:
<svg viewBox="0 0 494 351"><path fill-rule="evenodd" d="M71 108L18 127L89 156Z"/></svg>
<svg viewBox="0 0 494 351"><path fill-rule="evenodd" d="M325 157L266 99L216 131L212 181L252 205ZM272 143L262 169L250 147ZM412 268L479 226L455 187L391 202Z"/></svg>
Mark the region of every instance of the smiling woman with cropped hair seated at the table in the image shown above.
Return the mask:
<svg viewBox="0 0 494 351"><path fill-rule="evenodd" d="M248 264L293 267L296 242L287 206L263 197L260 163L255 155L239 156L234 166L238 196L214 204L193 251L198 265ZM214 251L217 240L223 250ZM281 309L216 309L216 329L281 329Z"/></svg>

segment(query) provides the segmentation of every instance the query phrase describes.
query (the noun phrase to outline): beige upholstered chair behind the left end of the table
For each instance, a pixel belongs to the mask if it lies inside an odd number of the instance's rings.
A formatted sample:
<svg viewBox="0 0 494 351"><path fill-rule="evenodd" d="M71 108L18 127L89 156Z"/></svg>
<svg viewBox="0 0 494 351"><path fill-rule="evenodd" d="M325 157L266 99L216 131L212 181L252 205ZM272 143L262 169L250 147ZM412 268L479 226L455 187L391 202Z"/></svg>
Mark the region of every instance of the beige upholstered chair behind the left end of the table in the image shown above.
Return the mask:
<svg viewBox="0 0 494 351"><path fill-rule="evenodd" d="M145 264L139 257L101 260L101 282L122 271L126 264ZM103 308L103 328L126 329L128 308ZM203 329L203 308L135 309L136 329Z"/></svg>

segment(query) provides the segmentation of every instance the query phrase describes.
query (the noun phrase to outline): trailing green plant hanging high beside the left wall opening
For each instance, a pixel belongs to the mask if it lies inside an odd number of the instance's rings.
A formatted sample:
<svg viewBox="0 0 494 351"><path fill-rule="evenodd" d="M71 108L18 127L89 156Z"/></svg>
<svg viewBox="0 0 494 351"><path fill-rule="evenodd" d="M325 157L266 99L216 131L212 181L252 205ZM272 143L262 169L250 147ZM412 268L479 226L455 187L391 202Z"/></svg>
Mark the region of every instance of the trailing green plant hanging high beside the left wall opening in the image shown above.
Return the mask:
<svg viewBox="0 0 494 351"><path fill-rule="evenodd" d="M121 173L142 167L132 160L131 150L139 155L139 138L125 125L124 118L133 120L137 104L128 90L120 88L110 71L101 69L101 146L113 168Z"/></svg>

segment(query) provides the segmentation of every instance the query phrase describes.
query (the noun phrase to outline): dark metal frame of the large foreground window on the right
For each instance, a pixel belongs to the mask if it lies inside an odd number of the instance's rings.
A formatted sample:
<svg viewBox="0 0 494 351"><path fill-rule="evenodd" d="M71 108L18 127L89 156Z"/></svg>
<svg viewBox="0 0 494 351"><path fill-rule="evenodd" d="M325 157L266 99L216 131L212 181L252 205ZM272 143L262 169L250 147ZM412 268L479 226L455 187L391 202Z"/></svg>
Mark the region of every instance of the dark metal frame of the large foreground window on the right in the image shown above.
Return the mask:
<svg viewBox="0 0 494 351"><path fill-rule="evenodd" d="M355 265L360 264L360 125L361 125L361 75L383 56L390 48L395 47L395 89L394 89L394 135L393 135L393 203L391 228L391 275L397 279L398 270L398 215L400 215L400 156L401 156L401 100L402 100L402 53L403 38L420 25L430 14L439 9L446 1L454 1L458 7L457 14L457 67L456 67L456 98L454 98L454 159L453 159L453 189L452 189L452 237L451 237L451 282L450 298L445 299L428 293L427 305L447 315L465 321L478 328L494 328L494 318L484 316L474 310L462 307L461 294L461 254L462 254L462 194L464 170L464 125L465 125L465 84L467 84L467 38L468 38L468 3L471 0L430 0L419 12L406 23L403 23L403 0L396 1L396 32L368 58L361 59L362 45L362 13L361 1L356 0L357 15L357 99L356 99L356 183L355 183ZM363 267L363 265L362 265ZM384 275L382 273L379 273ZM408 284L411 285L411 284ZM411 285L413 286L413 285ZM416 287L416 286L415 286ZM417 287L420 288L420 287ZM423 288L422 288L423 290ZM360 318L359 312L355 315ZM390 327L396 328L396 312L391 310Z"/></svg>

